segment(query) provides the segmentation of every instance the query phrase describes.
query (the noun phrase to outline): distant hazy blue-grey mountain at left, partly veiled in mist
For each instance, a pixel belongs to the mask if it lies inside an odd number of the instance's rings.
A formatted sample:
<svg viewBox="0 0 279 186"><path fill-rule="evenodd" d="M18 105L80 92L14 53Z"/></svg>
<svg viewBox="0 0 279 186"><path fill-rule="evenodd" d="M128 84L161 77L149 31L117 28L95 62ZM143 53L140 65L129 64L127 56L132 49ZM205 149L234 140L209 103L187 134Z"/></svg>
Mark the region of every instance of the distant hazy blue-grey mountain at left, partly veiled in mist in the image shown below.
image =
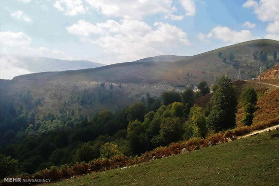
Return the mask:
<svg viewBox="0 0 279 186"><path fill-rule="evenodd" d="M6 72L9 73L6 75L5 79L10 79L13 78L13 76L33 72L77 70L104 66L104 64L94 63L91 61L69 61L45 57L18 55L0 55L0 61L2 65L4 65L3 69L6 69L5 71L3 71L4 75Z"/></svg>

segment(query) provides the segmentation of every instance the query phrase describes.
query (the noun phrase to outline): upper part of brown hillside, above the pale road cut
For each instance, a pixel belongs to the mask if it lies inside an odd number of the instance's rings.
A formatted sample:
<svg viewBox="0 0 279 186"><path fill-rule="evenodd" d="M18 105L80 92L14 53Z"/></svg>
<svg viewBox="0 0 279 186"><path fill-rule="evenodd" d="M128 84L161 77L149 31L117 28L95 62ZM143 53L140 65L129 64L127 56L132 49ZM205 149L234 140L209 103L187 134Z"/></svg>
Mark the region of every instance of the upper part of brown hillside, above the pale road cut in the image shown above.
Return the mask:
<svg viewBox="0 0 279 186"><path fill-rule="evenodd" d="M76 71L37 73L14 78L15 80L63 80L63 81L97 81L114 83L159 83L173 85L197 85L206 80L214 83L220 76L227 74L236 79L240 68L243 78L258 76L258 68L265 63L254 59L255 51L267 52L268 59L272 60L273 51L279 47L274 40L254 40L228 47L223 47L199 55L181 58L174 62L149 61L113 64L95 69ZM219 53L221 56L219 57ZM229 60L233 54L234 59ZM224 62L224 58L227 60Z"/></svg>

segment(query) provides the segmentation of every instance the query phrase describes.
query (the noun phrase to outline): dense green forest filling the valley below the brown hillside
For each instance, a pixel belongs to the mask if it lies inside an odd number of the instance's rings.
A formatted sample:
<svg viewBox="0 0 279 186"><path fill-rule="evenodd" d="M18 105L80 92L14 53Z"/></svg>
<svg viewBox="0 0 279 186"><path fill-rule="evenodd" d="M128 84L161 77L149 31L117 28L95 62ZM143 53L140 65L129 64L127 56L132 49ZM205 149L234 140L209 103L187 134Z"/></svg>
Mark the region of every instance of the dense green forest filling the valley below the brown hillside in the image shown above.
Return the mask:
<svg viewBox="0 0 279 186"><path fill-rule="evenodd" d="M6 103L0 108L0 169L5 170L0 178L116 155L140 156L172 142L205 138L236 125L238 102L245 111L241 122L252 124L257 109L253 88L238 92L231 79L222 77L205 108L194 103L210 94L210 88L203 81L198 90L164 92L160 97L146 93L141 102L123 110L102 110L93 116L63 107L59 114L38 116L33 108L43 98L34 99L27 91L20 95L24 105Z"/></svg>

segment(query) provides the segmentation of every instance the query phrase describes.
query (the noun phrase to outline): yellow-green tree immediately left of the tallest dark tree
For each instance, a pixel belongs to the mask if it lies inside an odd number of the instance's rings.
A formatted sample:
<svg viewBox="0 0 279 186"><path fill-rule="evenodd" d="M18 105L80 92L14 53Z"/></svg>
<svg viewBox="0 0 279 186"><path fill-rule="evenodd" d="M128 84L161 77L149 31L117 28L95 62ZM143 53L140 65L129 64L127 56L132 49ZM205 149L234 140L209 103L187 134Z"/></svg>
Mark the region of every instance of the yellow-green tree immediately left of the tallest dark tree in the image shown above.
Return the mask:
<svg viewBox="0 0 279 186"><path fill-rule="evenodd" d="M190 109L190 114L186 123L186 127L191 126L193 137L205 138L208 129L201 107L193 106Z"/></svg>

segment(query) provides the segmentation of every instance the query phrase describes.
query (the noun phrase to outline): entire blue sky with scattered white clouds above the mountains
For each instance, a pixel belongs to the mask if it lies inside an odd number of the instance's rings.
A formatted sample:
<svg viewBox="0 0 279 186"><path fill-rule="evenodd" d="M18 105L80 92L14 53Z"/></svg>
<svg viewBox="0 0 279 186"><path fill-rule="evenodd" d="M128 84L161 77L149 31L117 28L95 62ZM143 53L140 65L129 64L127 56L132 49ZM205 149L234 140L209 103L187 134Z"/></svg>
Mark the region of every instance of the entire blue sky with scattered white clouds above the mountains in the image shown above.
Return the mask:
<svg viewBox="0 0 279 186"><path fill-rule="evenodd" d="M0 0L0 54L104 64L279 40L277 0Z"/></svg>

